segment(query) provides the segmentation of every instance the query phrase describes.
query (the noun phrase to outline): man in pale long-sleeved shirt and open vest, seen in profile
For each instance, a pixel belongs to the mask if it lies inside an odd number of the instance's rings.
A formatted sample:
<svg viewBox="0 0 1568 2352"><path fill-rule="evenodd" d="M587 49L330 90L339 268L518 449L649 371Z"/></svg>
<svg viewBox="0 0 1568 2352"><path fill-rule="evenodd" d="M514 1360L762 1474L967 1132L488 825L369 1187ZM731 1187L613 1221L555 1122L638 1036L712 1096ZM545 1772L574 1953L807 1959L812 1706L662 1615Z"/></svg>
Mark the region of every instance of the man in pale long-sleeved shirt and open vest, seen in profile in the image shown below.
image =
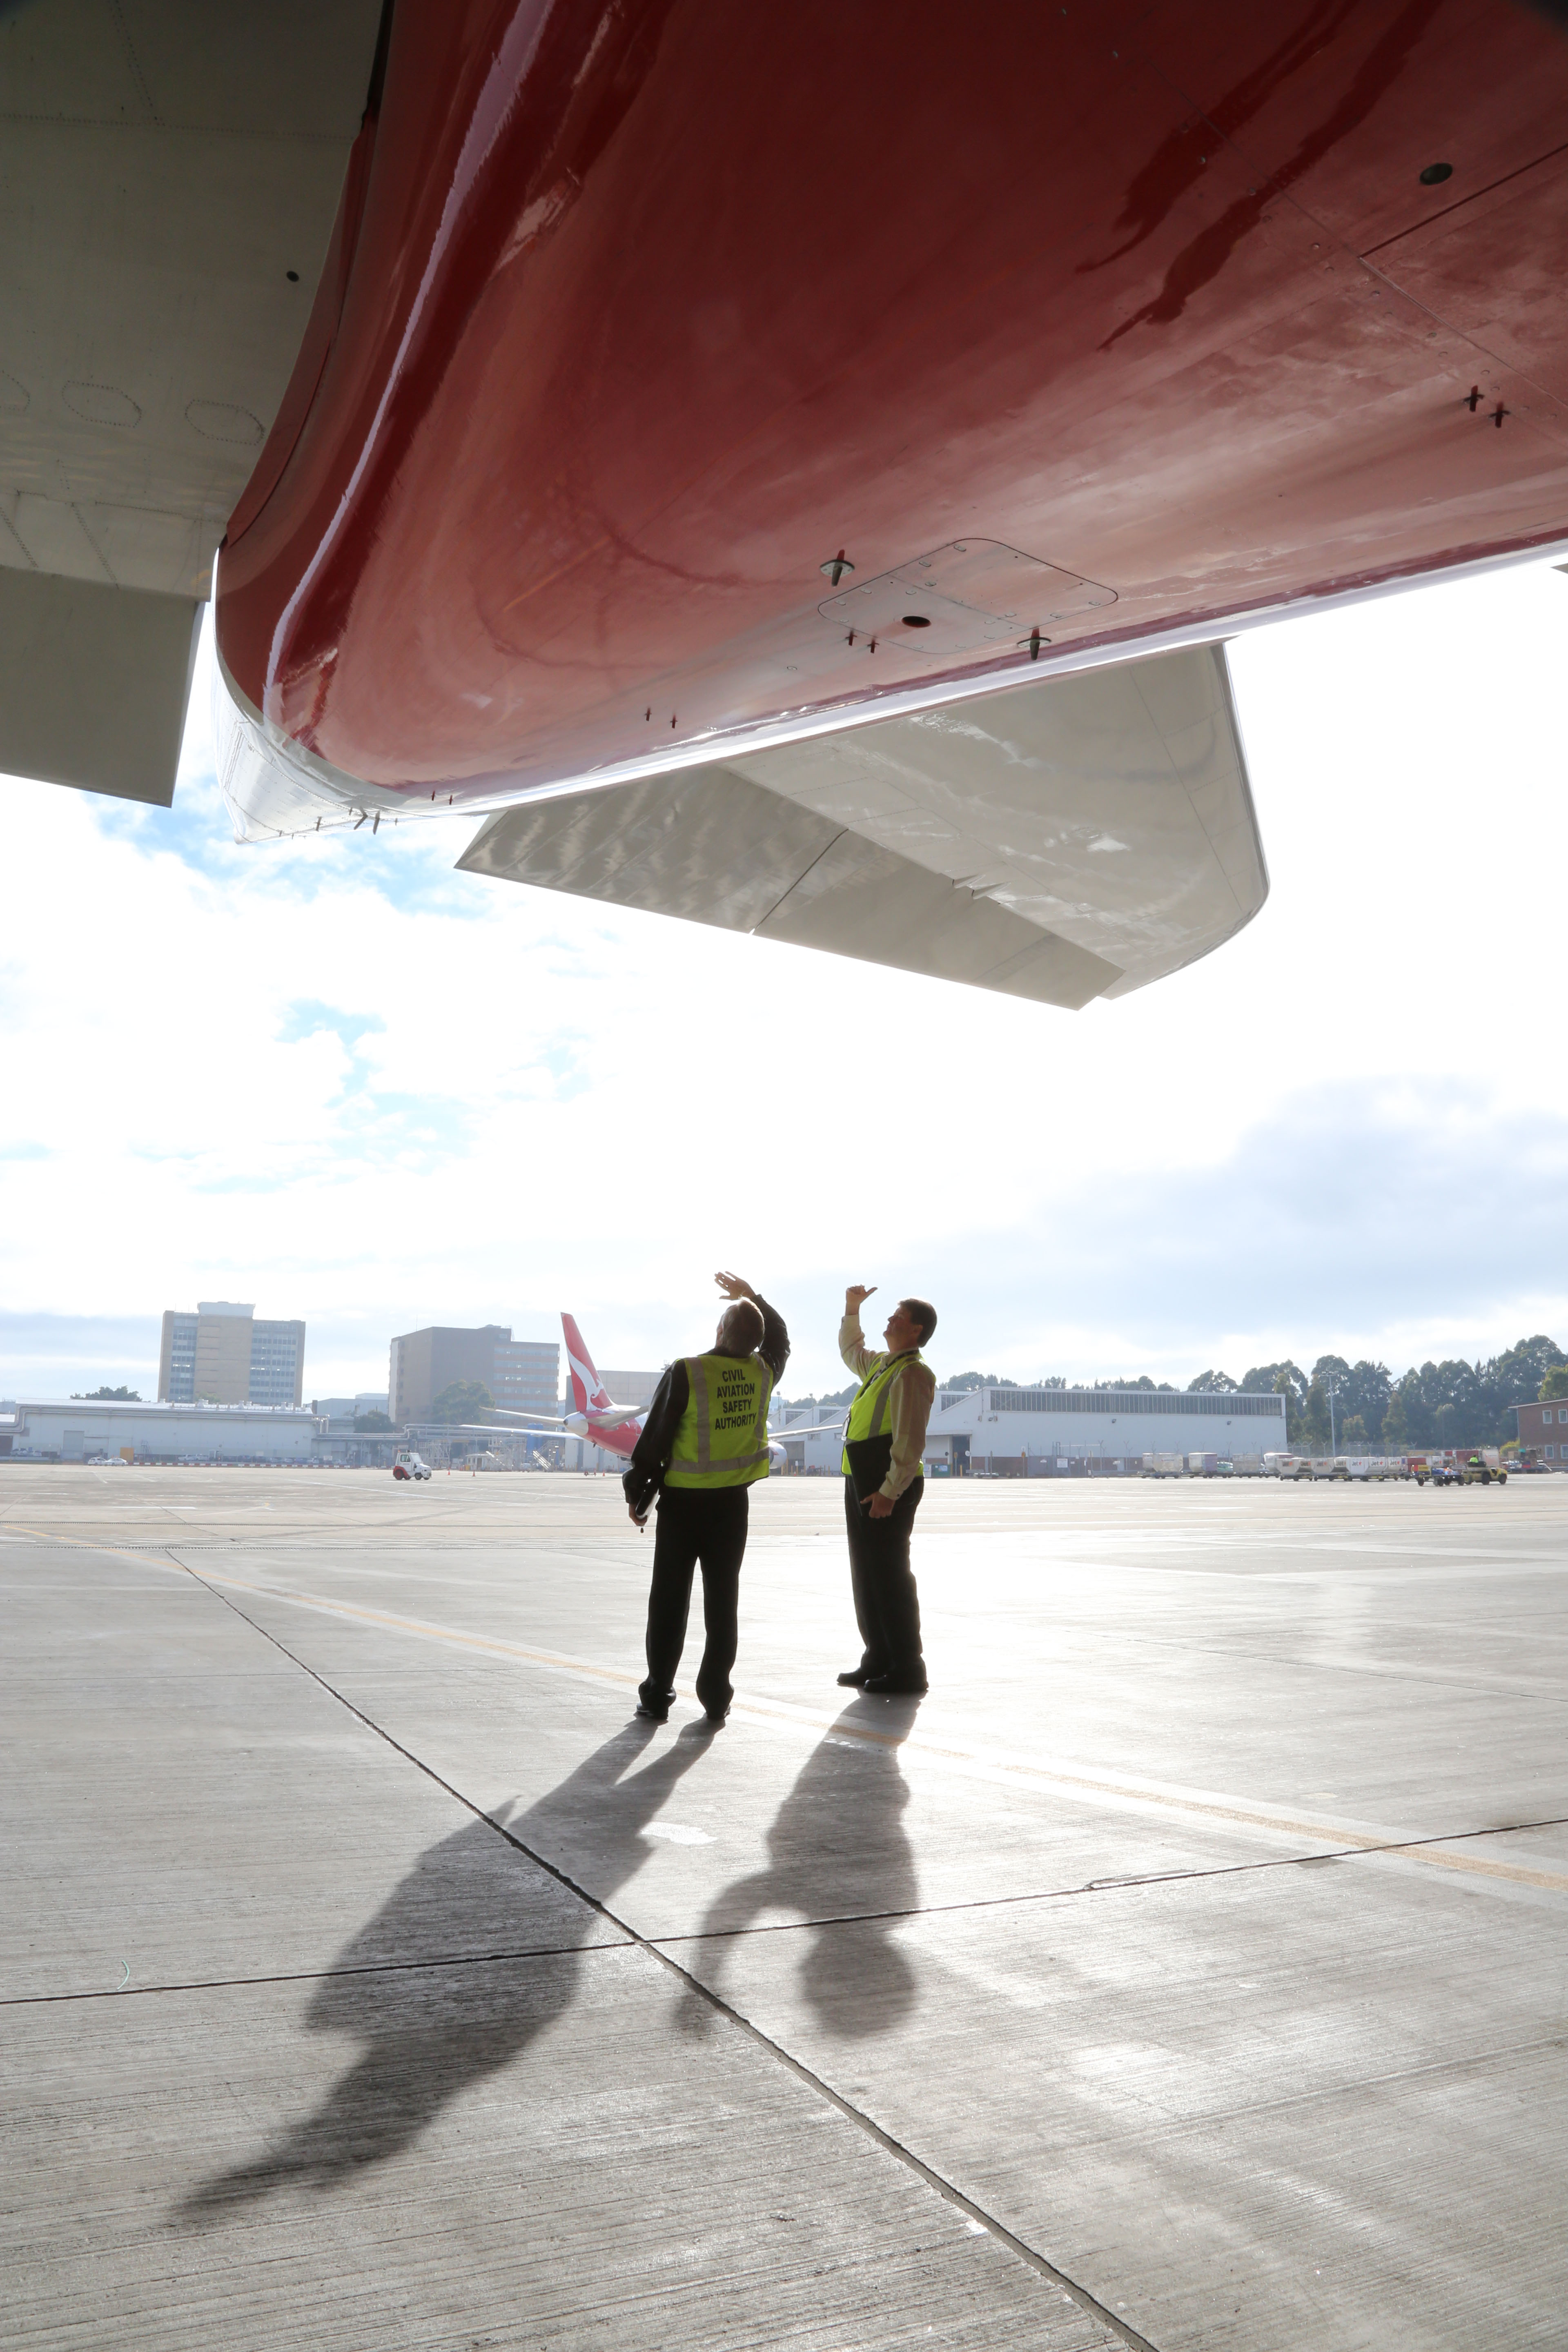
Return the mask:
<svg viewBox="0 0 1568 2352"><path fill-rule="evenodd" d="M851 1665L839 1682L863 1691L917 1693L926 1689L926 1658L910 1531L926 1491L936 1376L919 1350L936 1331L936 1308L926 1298L900 1298L882 1334L886 1348L872 1350L860 1331L860 1308L870 1296L863 1282L853 1282L844 1291L839 1324L839 1355L860 1381L844 1428L844 1524L863 1644L860 1665Z"/></svg>

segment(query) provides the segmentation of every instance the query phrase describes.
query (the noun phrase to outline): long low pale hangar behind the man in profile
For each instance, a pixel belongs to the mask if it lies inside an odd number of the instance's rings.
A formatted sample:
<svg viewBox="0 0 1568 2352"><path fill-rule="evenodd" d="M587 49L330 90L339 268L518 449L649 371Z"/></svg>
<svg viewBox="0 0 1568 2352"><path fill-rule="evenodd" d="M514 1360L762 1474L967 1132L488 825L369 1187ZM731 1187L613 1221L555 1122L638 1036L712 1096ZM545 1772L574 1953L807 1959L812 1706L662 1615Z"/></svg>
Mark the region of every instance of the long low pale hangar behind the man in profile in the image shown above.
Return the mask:
<svg viewBox="0 0 1568 2352"><path fill-rule="evenodd" d="M837 1472L842 1406L806 1406L773 1430L790 1470ZM1126 1477L1145 1454L1262 1456L1286 1444L1286 1399L1248 1390L940 1388L926 1470L947 1477Z"/></svg>

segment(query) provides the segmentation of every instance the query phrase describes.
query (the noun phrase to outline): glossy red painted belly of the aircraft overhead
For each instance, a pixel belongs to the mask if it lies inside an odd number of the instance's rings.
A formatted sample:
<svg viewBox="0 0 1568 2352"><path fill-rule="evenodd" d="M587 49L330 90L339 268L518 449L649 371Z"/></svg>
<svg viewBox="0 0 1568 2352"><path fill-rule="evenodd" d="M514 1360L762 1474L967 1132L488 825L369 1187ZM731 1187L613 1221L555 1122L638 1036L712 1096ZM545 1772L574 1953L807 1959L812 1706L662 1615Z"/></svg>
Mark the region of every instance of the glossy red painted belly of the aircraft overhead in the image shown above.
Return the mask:
<svg viewBox="0 0 1568 2352"><path fill-rule="evenodd" d="M1549 543L1566 122L1512 0L397 0L228 673L461 802ZM969 539L1084 595L820 576Z"/></svg>

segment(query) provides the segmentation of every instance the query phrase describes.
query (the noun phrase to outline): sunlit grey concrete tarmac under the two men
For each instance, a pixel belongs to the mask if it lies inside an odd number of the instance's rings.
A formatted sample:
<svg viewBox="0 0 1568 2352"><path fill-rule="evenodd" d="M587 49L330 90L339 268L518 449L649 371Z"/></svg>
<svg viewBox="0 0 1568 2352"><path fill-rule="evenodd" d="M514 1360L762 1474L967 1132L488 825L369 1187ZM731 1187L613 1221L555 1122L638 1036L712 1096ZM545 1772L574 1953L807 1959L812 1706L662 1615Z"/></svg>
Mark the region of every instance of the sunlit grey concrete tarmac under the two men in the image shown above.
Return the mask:
<svg viewBox="0 0 1568 2352"><path fill-rule="evenodd" d="M7 2343L1568 2345L1568 1479L0 1470ZM696 1609L693 1609L696 1616Z"/></svg>

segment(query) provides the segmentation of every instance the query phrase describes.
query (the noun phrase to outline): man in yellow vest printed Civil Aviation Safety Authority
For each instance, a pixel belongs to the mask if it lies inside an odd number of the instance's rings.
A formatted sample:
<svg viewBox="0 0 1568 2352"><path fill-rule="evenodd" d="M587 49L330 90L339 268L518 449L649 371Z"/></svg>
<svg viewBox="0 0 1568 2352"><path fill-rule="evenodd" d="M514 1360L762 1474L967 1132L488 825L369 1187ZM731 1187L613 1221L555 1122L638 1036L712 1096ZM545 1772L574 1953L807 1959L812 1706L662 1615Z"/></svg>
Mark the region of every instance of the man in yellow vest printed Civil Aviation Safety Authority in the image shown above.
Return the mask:
<svg viewBox="0 0 1568 2352"><path fill-rule="evenodd" d="M710 1724L729 1715L738 1644L748 1486L769 1475L769 1397L790 1357L783 1315L741 1275L715 1275L729 1298L708 1355L679 1357L654 1390L632 1465L621 1479L635 1526L658 1496L649 1588L649 1677L637 1715L668 1722L686 1644L691 1573L703 1566L708 1642L696 1696Z"/></svg>

